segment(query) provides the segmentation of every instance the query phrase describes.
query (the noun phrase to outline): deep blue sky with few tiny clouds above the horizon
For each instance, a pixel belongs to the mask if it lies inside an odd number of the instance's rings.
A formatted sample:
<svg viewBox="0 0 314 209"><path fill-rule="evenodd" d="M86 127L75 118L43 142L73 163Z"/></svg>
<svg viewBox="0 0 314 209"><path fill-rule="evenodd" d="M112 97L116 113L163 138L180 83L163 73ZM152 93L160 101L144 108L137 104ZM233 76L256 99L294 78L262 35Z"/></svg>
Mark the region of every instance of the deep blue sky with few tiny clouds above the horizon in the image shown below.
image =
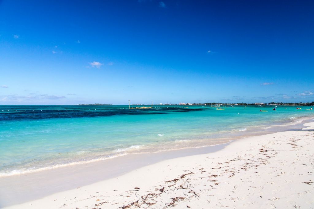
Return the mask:
<svg viewBox="0 0 314 209"><path fill-rule="evenodd" d="M0 0L0 104L314 100L314 1Z"/></svg>

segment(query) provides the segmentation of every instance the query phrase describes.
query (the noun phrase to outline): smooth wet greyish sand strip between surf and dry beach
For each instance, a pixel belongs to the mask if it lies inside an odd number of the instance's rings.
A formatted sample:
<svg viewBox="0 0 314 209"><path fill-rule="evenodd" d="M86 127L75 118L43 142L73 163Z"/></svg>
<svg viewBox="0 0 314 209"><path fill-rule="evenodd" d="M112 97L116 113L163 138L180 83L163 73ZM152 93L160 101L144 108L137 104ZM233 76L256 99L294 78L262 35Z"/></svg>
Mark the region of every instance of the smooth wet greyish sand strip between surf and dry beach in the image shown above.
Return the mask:
<svg viewBox="0 0 314 209"><path fill-rule="evenodd" d="M279 133L284 132L275 134ZM0 188L0 197L2 199L0 200L0 207L12 206L12 202L15 204L26 203L27 201L45 198L51 194L67 192L73 188L89 186L117 176L127 175L137 169L143 169L145 166L152 166L156 163L184 157L192 158L193 156L208 153L214 154L225 150L225 147L229 147L230 144L246 140L247 138L254 138L254 136L241 138L241 140L235 140L232 143L227 142L208 147L185 148L150 154L132 154L94 163L86 163L84 165L73 165L30 174L3 177L0 178L0 185L3 185ZM144 157L144 155L146 156ZM100 173L102 175L99 175ZM14 182L13 185L12 182Z"/></svg>

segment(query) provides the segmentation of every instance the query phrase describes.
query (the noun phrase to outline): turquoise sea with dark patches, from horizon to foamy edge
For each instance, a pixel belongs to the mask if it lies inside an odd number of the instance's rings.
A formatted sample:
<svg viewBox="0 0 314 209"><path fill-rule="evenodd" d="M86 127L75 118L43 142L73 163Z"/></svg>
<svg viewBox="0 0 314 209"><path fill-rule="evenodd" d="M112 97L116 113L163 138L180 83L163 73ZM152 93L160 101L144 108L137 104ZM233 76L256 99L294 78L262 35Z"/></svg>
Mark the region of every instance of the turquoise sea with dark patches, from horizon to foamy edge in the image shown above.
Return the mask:
<svg viewBox="0 0 314 209"><path fill-rule="evenodd" d="M314 116L314 110L306 110L310 107L272 108L0 105L0 177L131 153L225 143Z"/></svg>

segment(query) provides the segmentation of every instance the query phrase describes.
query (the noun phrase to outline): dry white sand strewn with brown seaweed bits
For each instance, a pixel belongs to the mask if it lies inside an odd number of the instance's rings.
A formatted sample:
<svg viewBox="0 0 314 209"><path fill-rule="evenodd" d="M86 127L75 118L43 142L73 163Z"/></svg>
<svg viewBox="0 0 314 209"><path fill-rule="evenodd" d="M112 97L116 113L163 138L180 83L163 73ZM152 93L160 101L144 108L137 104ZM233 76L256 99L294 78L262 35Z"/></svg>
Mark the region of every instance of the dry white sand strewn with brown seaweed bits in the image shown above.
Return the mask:
<svg viewBox="0 0 314 209"><path fill-rule="evenodd" d="M304 125L4 208L314 208L314 122Z"/></svg>

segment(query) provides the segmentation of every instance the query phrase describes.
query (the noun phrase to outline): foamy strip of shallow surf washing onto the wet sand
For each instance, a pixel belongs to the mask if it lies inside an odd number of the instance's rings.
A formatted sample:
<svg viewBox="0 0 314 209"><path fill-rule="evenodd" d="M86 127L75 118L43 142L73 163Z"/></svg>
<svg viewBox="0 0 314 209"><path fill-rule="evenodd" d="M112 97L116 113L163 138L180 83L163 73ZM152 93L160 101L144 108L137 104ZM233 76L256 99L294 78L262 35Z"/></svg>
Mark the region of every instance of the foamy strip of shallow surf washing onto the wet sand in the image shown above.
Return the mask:
<svg viewBox="0 0 314 209"><path fill-rule="evenodd" d="M290 121L292 120L292 121ZM180 149L190 149L190 148L202 148L202 147L208 147L208 146L215 146L219 144L225 144L228 142L232 142L234 140L238 140L245 137L252 137L252 136L260 136L268 133L275 133L280 131L285 131L284 129L288 127L294 128L294 126L299 127L304 121L311 122L312 117L311 116L300 116L294 119L286 119L284 121L280 121L279 125L271 125L269 127L246 127L246 128L240 128L239 130L234 129L230 131L224 131L219 133L218 135L220 137L210 137L210 138L199 138L199 139L184 139L184 140L175 140L175 141L167 141L162 142L158 146L162 146L163 148L160 150L154 150L152 151L150 147L154 147L153 144L147 146L147 145L132 145L131 147L126 147L122 149L121 153L120 151L113 150L110 151L109 154L104 156L99 156L98 158L90 158L90 159L84 159L84 160L78 160L73 162L66 162L64 164L52 164L47 165L39 168L33 168L33 169L14 169L10 172L0 172L0 180L1 178L15 176L15 175L25 175L25 174L32 174L35 172L41 172L45 170L53 170L58 169L62 167L68 167L68 166L75 166L75 165L81 165L86 163L95 163L103 160L110 160L114 158L120 158L127 155L133 155L133 154L154 154L154 153L161 153L161 152L168 152L168 151L174 151L174 150L180 150ZM300 122L301 121L301 122ZM259 131L255 131L259 130ZM224 137L223 137L224 136ZM144 148L136 148L134 147L144 147ZM170 148L171 147L171 148ZM133 148L133 150L132 150ZM170 148L170 149L169 149ZM129 150L130 149L130 150ZM118 149L119 150L119 149ZM82 156L81 156L82 157ZM78 157L79 159L79 157Z"/></svg>

